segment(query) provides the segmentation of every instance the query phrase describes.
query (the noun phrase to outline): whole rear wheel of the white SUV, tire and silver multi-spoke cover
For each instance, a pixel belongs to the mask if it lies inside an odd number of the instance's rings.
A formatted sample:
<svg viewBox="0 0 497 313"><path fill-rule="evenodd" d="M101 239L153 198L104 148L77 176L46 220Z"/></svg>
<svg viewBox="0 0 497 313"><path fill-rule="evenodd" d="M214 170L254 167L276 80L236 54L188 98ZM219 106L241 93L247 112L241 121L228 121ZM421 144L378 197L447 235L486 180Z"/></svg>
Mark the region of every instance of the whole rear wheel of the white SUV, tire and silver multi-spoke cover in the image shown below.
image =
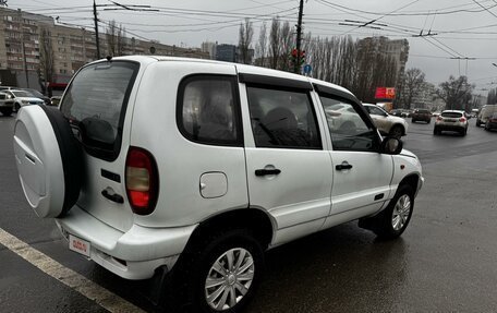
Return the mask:
<svg viewBox="0 0 497 313"><path fill-rule="evenodd" d="M247 230L211 236L185 260L187 312L239 312L254 294L264 267L260 244Z"/></svg>

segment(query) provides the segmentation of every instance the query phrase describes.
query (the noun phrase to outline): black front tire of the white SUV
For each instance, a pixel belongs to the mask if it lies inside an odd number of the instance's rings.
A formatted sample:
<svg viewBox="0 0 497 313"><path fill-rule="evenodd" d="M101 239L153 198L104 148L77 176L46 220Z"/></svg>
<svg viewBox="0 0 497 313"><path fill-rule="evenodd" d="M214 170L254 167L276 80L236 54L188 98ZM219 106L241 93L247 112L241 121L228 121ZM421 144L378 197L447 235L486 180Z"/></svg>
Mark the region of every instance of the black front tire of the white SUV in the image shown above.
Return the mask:
<svg viewBox="0 0 497 313"><path fill-rule="evenodd" d="M409 200L408 202L403 202ZM400 207L399 207L400 206ZM407 215L401 213L399 209L403 209L409 206L409 212L404 212ZM372 224L371 230L378 236L380 239L390 240L396 239L404 232L408 228L409 221L411 220L412 212L414 208L414 191L408 185L403 184L398 190L393 198L388 204L381 213L374 217L374 222ZM393 216L398 215L397 221L399 222L398 227L395 227Z"/></svg>

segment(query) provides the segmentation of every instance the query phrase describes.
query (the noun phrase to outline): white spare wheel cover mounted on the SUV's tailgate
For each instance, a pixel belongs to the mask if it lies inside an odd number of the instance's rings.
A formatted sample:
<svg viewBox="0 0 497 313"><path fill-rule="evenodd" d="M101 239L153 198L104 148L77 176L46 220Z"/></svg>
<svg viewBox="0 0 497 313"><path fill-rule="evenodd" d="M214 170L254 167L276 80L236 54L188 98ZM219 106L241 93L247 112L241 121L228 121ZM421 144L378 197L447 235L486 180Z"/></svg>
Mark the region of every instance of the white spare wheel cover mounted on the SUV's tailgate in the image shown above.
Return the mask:
<svg viewBox="0 0 497 313"><path fill-rule="evenodd" d="M15 121L14 153L27 202L39 217L60 217L81 190L81 147L57 108L23 107Z"/></svg>

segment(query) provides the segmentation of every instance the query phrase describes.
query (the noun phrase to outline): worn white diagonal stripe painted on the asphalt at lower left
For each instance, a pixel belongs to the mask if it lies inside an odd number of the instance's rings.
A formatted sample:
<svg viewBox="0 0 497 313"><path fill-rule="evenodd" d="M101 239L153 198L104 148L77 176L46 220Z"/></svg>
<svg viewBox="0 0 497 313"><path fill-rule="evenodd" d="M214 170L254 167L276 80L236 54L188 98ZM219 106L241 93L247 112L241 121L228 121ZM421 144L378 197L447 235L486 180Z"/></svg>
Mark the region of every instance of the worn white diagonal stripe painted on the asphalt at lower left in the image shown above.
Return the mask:
<svg viewBox="0 0 497 313"><path fill-rule="evenodd" d="M0 228L0 244L109 312L145 312Z"/></svg>

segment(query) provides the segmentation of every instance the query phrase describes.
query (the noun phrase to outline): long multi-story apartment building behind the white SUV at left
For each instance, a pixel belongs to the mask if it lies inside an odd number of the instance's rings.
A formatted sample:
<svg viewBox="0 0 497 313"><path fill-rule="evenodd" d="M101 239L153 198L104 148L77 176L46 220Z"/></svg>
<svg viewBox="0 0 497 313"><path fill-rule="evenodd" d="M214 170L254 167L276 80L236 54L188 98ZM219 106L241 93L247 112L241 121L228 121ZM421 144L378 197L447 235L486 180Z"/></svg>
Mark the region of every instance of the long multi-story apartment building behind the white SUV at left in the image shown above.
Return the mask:
<svg viewBox="0 0 497 313"><path fill-rule="evenodd" d="M111 55L107 36L106 33L99 36L100 57ZM208 52L196 48L180 48L134 37L124 37L122 40L122 55L209 59ZM52 60L47 50L53 52ZM43 56L44 53L47 56ZM50 60L47 61L47 58ZM39 89L45 83L45 68L50 67L50 83L63 86L82 65L96 59L98 56L94 32L61 25L50 16L0 8L1 84L7 85L5 82L9 82L20 87Z"/></svg>

